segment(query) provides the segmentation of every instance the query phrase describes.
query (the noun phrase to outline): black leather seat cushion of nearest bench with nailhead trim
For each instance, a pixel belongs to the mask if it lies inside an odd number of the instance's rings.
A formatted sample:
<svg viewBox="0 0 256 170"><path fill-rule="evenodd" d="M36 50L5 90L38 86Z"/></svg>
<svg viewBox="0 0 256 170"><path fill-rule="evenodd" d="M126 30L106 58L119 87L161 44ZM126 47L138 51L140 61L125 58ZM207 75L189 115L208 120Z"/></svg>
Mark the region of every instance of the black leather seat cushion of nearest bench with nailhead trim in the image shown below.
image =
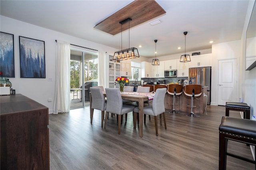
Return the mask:
<svg viewBox="0 0 256 170"><path fill-rule="evenodd" d="M220 132L231 133L256 139L256 121L222 117L219 127Z"/></svg>

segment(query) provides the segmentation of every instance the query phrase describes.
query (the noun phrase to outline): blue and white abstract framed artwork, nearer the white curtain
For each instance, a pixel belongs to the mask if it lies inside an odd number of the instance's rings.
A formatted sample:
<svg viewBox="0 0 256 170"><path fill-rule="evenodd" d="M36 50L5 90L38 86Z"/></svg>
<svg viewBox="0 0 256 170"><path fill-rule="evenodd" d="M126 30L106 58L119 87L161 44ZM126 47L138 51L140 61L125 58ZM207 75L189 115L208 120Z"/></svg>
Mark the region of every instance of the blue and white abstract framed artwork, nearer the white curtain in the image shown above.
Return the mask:
<svg viewBox="0 0 256 170"><path fill-rule="evenodd" d="M44 41L19 36L20 77L45 78Z"/></svg>

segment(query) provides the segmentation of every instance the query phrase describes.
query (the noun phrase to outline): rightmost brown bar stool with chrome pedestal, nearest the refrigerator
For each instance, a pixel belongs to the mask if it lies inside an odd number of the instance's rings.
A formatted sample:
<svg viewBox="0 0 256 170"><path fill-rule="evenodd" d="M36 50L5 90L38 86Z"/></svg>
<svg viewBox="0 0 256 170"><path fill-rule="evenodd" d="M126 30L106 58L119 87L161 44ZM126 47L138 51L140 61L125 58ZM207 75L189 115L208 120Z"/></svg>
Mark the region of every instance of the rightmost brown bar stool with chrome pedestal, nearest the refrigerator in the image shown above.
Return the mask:
<svg viewBox="0 0 256 170"><path fill-rule="evenodd" d="M191 107L191 112L187 116L200 117L200 115L193 113L193 107L196 107L194 106L194 97L198 97L202 94L202 86L201 85L185 85L184 94L191 97L191 105L187 106L187 107Z"/></svg>

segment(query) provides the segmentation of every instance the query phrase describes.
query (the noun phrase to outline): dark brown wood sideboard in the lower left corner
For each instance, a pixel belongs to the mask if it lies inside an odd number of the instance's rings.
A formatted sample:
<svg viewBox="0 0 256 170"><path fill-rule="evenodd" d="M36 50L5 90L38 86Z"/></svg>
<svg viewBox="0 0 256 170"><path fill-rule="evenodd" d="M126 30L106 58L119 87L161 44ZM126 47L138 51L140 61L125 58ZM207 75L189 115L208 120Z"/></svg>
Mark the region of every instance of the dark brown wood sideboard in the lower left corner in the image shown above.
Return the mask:
<svg viewBox="0 0 256 170"><path fill-rule="evenodd" d="M21 94L0 96L1 170L49 170L48 107Z"/></svg>

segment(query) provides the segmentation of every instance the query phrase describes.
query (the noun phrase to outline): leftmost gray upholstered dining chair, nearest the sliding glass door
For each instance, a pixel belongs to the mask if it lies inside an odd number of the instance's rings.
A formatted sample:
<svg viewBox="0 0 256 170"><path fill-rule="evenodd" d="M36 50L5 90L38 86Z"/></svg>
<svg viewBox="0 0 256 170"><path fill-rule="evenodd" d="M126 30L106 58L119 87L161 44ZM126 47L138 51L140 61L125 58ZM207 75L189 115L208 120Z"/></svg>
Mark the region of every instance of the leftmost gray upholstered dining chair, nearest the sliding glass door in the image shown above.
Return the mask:
<svg viewBox="0 0 256 170"><path fill-rule="evenodd" d="M103 127L104 120L104 112L106 111L107 103L105 102L105 97L102 93L102 90L98 87L90 87L91 95L92 95L92 115L91 116L91 124L93 118L94 109L101 111L101 127Z"/></svg>

